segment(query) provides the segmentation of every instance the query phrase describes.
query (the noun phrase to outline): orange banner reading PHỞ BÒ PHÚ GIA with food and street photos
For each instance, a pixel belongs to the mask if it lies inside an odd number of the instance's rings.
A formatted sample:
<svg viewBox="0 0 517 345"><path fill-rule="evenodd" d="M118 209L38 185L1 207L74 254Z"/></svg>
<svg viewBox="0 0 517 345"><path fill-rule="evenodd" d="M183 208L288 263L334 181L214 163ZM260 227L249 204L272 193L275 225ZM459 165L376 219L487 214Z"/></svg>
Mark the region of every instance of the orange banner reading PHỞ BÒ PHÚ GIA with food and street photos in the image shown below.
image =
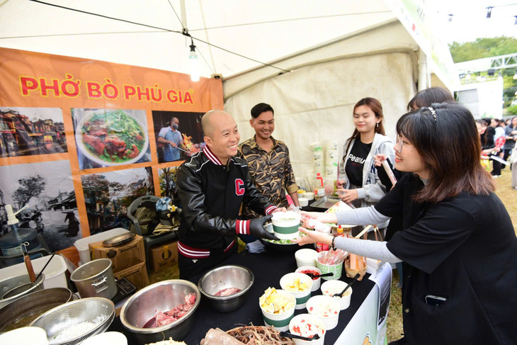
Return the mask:
<svg viewBox="0 0 517 345"><path fill-rule="evenodd" d="M75 259L77 239L128 227L138 196L170 196L223 106L220 79L0 48L0 234L4 205L26 206L21 227Z"/></svg>

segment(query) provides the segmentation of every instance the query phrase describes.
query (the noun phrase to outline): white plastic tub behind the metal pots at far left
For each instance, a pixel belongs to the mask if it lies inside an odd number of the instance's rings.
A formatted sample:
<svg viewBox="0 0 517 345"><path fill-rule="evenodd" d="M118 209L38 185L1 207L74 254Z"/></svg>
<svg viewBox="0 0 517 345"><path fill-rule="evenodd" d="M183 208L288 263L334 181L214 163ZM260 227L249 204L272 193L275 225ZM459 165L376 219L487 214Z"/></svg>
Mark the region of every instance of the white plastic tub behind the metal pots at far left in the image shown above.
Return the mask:
<svg viewBox="0 0 517 345"><path fill-rule="evenodd" d="M34 273L36 276L38 276L43 266L47 264L47 261L49 261L50 257L51 256L43 256L42 258L30 261L33 264ZM65 271L67 271L67 264L64 262L64 259L59 255L55 255L50 261L50 264L48 264L47 268L45 268L45 271L43 271L43 274L45 274L43 288L68 288L67 276L64 273ZM25 263L0 269L0 277L21 276L22 274L27 274L27 267L25 266Z"/></svg>

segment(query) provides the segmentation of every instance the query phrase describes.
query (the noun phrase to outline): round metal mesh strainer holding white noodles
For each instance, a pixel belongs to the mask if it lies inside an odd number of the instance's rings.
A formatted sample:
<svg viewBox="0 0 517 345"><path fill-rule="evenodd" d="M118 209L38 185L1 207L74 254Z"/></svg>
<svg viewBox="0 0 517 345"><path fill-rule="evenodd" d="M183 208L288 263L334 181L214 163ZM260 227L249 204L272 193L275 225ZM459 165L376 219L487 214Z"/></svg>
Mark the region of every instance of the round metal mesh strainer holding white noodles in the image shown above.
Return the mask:
<svg viewBox="0 0 517 345"><path fill-rule="evenodd" d="M64 341L55 341L55 338L65 329L77 327L76 325L81 322L96 323L100 319L103 320L100 324L84 334ZM92 297L59 305L35 319L30 326L45 329L50 345L76 345L90 336L105 332L113 319L115 319L113 302L107 298Z"/></svg>

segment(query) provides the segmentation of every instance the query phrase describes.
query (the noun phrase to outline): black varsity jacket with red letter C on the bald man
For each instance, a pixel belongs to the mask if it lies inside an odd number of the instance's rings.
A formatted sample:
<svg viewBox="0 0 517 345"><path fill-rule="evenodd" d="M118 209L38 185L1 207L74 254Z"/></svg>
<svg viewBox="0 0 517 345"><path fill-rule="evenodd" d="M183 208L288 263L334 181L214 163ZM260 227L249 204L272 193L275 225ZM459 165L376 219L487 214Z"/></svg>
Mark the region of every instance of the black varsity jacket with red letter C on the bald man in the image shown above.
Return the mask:
<svg viewBox="0 0 517 345"><path fill-rule="evenodd" d="M245 233L236 230L243 201L256 213L276 208L255 188L244 159L230 157L223 165L208 147L181 164L176 183L183 209L179 241L210 253L225 250L235 234Z"/></svg>

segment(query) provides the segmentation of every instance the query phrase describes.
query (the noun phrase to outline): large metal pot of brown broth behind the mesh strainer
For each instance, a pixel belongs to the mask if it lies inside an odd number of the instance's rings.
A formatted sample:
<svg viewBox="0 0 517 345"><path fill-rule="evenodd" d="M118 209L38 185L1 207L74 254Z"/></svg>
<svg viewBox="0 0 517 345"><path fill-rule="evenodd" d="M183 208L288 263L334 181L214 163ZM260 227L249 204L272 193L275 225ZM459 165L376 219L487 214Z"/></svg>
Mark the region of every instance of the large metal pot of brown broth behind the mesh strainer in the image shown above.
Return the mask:
<svg viewBox="0 0 517 345"><path fill-rule="evenodd" d="M47 310L70 300L72 291L67 288L50 288L24 295L1 310L7 317L0 317L0 332L26 327Z"/></svg>

